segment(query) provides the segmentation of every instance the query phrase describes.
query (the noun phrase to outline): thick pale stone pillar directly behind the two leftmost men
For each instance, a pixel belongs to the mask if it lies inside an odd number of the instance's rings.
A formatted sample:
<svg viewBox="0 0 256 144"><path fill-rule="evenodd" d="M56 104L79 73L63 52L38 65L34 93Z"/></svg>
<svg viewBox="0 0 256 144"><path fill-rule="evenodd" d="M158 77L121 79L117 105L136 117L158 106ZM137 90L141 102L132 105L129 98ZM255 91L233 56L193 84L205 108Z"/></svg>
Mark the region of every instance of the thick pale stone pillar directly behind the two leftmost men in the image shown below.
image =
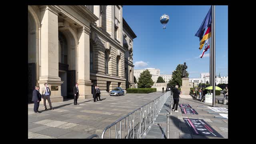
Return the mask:
<svg viewBox="0 0 256 144"><path fill-rule="evenodd" d="M41 22L41 76L38 83L40 92L44 83L51 86L58 86L58 90L51 91L51 102L62 102L61 87L63 83L59 77L59 60L58 60L58 14L50 6L40 8Z"/></svg>

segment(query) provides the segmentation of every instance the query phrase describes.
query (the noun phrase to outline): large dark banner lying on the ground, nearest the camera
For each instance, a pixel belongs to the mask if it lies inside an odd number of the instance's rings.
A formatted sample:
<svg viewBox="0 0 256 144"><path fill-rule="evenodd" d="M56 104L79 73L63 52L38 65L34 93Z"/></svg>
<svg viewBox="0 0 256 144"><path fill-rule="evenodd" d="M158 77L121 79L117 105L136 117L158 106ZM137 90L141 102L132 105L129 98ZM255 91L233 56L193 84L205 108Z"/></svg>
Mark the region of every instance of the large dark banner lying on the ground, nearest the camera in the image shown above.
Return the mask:
<svg viewBox="0 0 256 144"><path fill-rule="evenodd" d="M209 124L201 119L183 118L190 132L194 135L212 136L223 138L216 130L214 130Z"/></svg>

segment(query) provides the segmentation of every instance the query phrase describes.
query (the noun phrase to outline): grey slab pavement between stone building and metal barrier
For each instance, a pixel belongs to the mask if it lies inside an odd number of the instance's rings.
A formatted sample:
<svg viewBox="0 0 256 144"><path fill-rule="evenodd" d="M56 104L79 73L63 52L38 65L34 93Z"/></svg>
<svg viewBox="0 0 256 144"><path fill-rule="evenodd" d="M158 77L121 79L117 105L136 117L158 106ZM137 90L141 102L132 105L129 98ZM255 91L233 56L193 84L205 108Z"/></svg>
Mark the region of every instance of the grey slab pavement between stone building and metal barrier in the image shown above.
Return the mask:
<svg viewBox="0 0 256 144"><path fill-rule="evenodd" d="M28 104L28 138L87 138L92 134L101 137L106 126L162 94L102 96L98 102L93 102L93 98L78 99L79 105L70 99L52 103L54 110L47 111L41 101L39 111L42 113L34 113L34 104Z"/></svg>

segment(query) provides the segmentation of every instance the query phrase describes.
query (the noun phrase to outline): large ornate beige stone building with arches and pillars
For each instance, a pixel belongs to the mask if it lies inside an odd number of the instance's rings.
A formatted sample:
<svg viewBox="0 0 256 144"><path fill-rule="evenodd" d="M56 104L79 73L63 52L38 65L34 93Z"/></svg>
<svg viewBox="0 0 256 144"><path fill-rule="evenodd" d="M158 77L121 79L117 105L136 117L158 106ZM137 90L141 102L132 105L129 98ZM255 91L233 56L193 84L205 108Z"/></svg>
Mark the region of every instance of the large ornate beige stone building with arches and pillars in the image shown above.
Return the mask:
<svg viewBox="0 0 256 144"><path fill-rule="evenodd" d="M52 102L73 98L76 82L82 99L134 86L134 38L122 6L28 6L28 101L46 82Z"/></svg>

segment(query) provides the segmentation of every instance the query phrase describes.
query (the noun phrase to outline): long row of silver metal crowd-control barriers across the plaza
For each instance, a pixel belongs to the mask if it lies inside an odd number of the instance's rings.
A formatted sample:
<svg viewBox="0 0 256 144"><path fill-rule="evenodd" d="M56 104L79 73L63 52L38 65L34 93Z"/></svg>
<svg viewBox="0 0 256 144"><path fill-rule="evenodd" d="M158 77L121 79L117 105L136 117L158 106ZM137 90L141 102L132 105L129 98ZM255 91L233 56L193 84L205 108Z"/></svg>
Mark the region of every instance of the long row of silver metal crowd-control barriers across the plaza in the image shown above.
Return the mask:
<svg viewBox="0 0 256 144"><path fill-rule="evenodd" d="M170 95L171 91L168 91L106 126L101 138L103 139L105 134L108 135L108 138L141 138L145 136L146 130L156 120L164 102Z"/></svg>

